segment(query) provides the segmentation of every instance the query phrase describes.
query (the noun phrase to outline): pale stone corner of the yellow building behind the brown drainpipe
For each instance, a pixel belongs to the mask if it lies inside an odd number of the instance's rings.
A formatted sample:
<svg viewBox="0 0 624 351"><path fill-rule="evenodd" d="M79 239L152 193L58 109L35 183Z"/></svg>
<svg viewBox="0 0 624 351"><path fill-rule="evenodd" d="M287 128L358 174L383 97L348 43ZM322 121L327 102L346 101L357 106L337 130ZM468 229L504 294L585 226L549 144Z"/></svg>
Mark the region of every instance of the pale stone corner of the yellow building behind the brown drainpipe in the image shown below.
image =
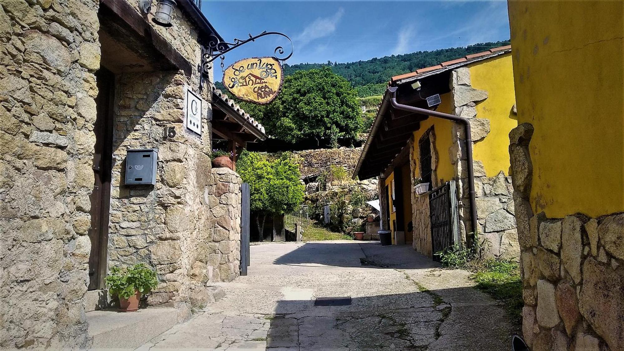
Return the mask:
<svg viewBox="0 0 624 351"><path fill-rule="evenodd" d="M488 92L474 89L470 83L470 69L461 67L452 72L451 89L456 116L470 121L472 142L479 142L490 132L490 121L477 118L477 103L487 99ZM464 126L453 125L452 145L449 148L457 182L459 206L459 229L461 238L466 239L470 232L478 232L479 240L487 240L490 254L494 256L517 258L519 244L515 229L514 200L511 177L500 171L495 177L487 177L483 163L473 159L474 186L477 204L477 222L479 228L471 228L470 206L467 184L466 136Z"/></svg>

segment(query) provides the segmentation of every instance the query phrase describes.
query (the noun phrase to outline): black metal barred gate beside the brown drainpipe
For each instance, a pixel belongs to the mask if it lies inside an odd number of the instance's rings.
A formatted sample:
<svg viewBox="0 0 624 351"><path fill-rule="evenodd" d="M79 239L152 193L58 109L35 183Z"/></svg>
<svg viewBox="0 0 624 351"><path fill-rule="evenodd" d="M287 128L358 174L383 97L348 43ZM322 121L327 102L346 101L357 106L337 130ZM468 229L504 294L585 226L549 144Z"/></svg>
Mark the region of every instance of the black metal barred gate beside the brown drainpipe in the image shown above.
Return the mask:
<svg viewBox="0 0 624 351"><path fill-rule="evenodd" d="M429 193L429 218L433 254L459 242L455 180L446 182ZM434 255L434 260L439 260L439 257Z"/></svg>

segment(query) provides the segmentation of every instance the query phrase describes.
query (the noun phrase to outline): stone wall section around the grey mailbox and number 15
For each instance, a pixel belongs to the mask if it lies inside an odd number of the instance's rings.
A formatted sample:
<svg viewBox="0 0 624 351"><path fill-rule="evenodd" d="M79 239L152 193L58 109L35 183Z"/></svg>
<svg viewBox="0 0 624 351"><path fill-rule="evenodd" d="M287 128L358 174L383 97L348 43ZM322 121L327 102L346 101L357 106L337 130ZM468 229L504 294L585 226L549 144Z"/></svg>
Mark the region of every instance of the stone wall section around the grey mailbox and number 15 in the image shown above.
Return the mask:
<svg viewBox="0 0 624 351"><path fill-rule="evenodd" d="M160 284L148 303L173 300L182 314L187 313L183 304L207 299L208 258L198 255L198 246L212 240L210 205L203 194L215 186L208 121L202 121L202 137L183 127L188 84L178 72L116 76L109 226L109 266L147 262L155 267ZM206 102L203 110L205 116ZM175 138L163 139L165 126L175 127ZM127 149L137 148L158 149L156 185L124 184Z"/></svg>

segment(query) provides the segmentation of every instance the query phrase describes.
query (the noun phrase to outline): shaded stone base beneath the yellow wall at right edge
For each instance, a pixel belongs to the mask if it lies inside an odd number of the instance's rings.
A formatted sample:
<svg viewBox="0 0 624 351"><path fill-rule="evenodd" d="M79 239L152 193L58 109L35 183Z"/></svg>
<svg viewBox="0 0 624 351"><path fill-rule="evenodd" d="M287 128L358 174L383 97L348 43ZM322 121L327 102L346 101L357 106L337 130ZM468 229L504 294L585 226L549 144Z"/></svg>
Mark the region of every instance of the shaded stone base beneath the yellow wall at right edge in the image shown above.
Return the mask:
<svg viewBox="0 0 624 351"><path fill-rule="evenodd" d="M624 214L534 214L533 132L524 123L509 134L524 338L532 350L624 350Z"/></svg>

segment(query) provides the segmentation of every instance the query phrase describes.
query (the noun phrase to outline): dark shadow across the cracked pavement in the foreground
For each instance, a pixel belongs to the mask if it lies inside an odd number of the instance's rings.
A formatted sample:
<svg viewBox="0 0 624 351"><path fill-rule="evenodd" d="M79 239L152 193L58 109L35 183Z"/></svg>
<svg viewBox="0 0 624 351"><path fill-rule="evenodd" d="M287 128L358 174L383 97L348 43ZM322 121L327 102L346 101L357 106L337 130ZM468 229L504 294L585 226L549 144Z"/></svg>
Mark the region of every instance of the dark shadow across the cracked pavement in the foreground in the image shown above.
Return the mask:
<svg viewBox="0 0 624 351"><path fill-rule="evenodd" d="M470 294L470 288L453 292ZM509 350L514 330L495 304L446 304L436 290L356 297L351 305L284 300L267 350ZM296 312L298 311L298 312Z"/></svg>

